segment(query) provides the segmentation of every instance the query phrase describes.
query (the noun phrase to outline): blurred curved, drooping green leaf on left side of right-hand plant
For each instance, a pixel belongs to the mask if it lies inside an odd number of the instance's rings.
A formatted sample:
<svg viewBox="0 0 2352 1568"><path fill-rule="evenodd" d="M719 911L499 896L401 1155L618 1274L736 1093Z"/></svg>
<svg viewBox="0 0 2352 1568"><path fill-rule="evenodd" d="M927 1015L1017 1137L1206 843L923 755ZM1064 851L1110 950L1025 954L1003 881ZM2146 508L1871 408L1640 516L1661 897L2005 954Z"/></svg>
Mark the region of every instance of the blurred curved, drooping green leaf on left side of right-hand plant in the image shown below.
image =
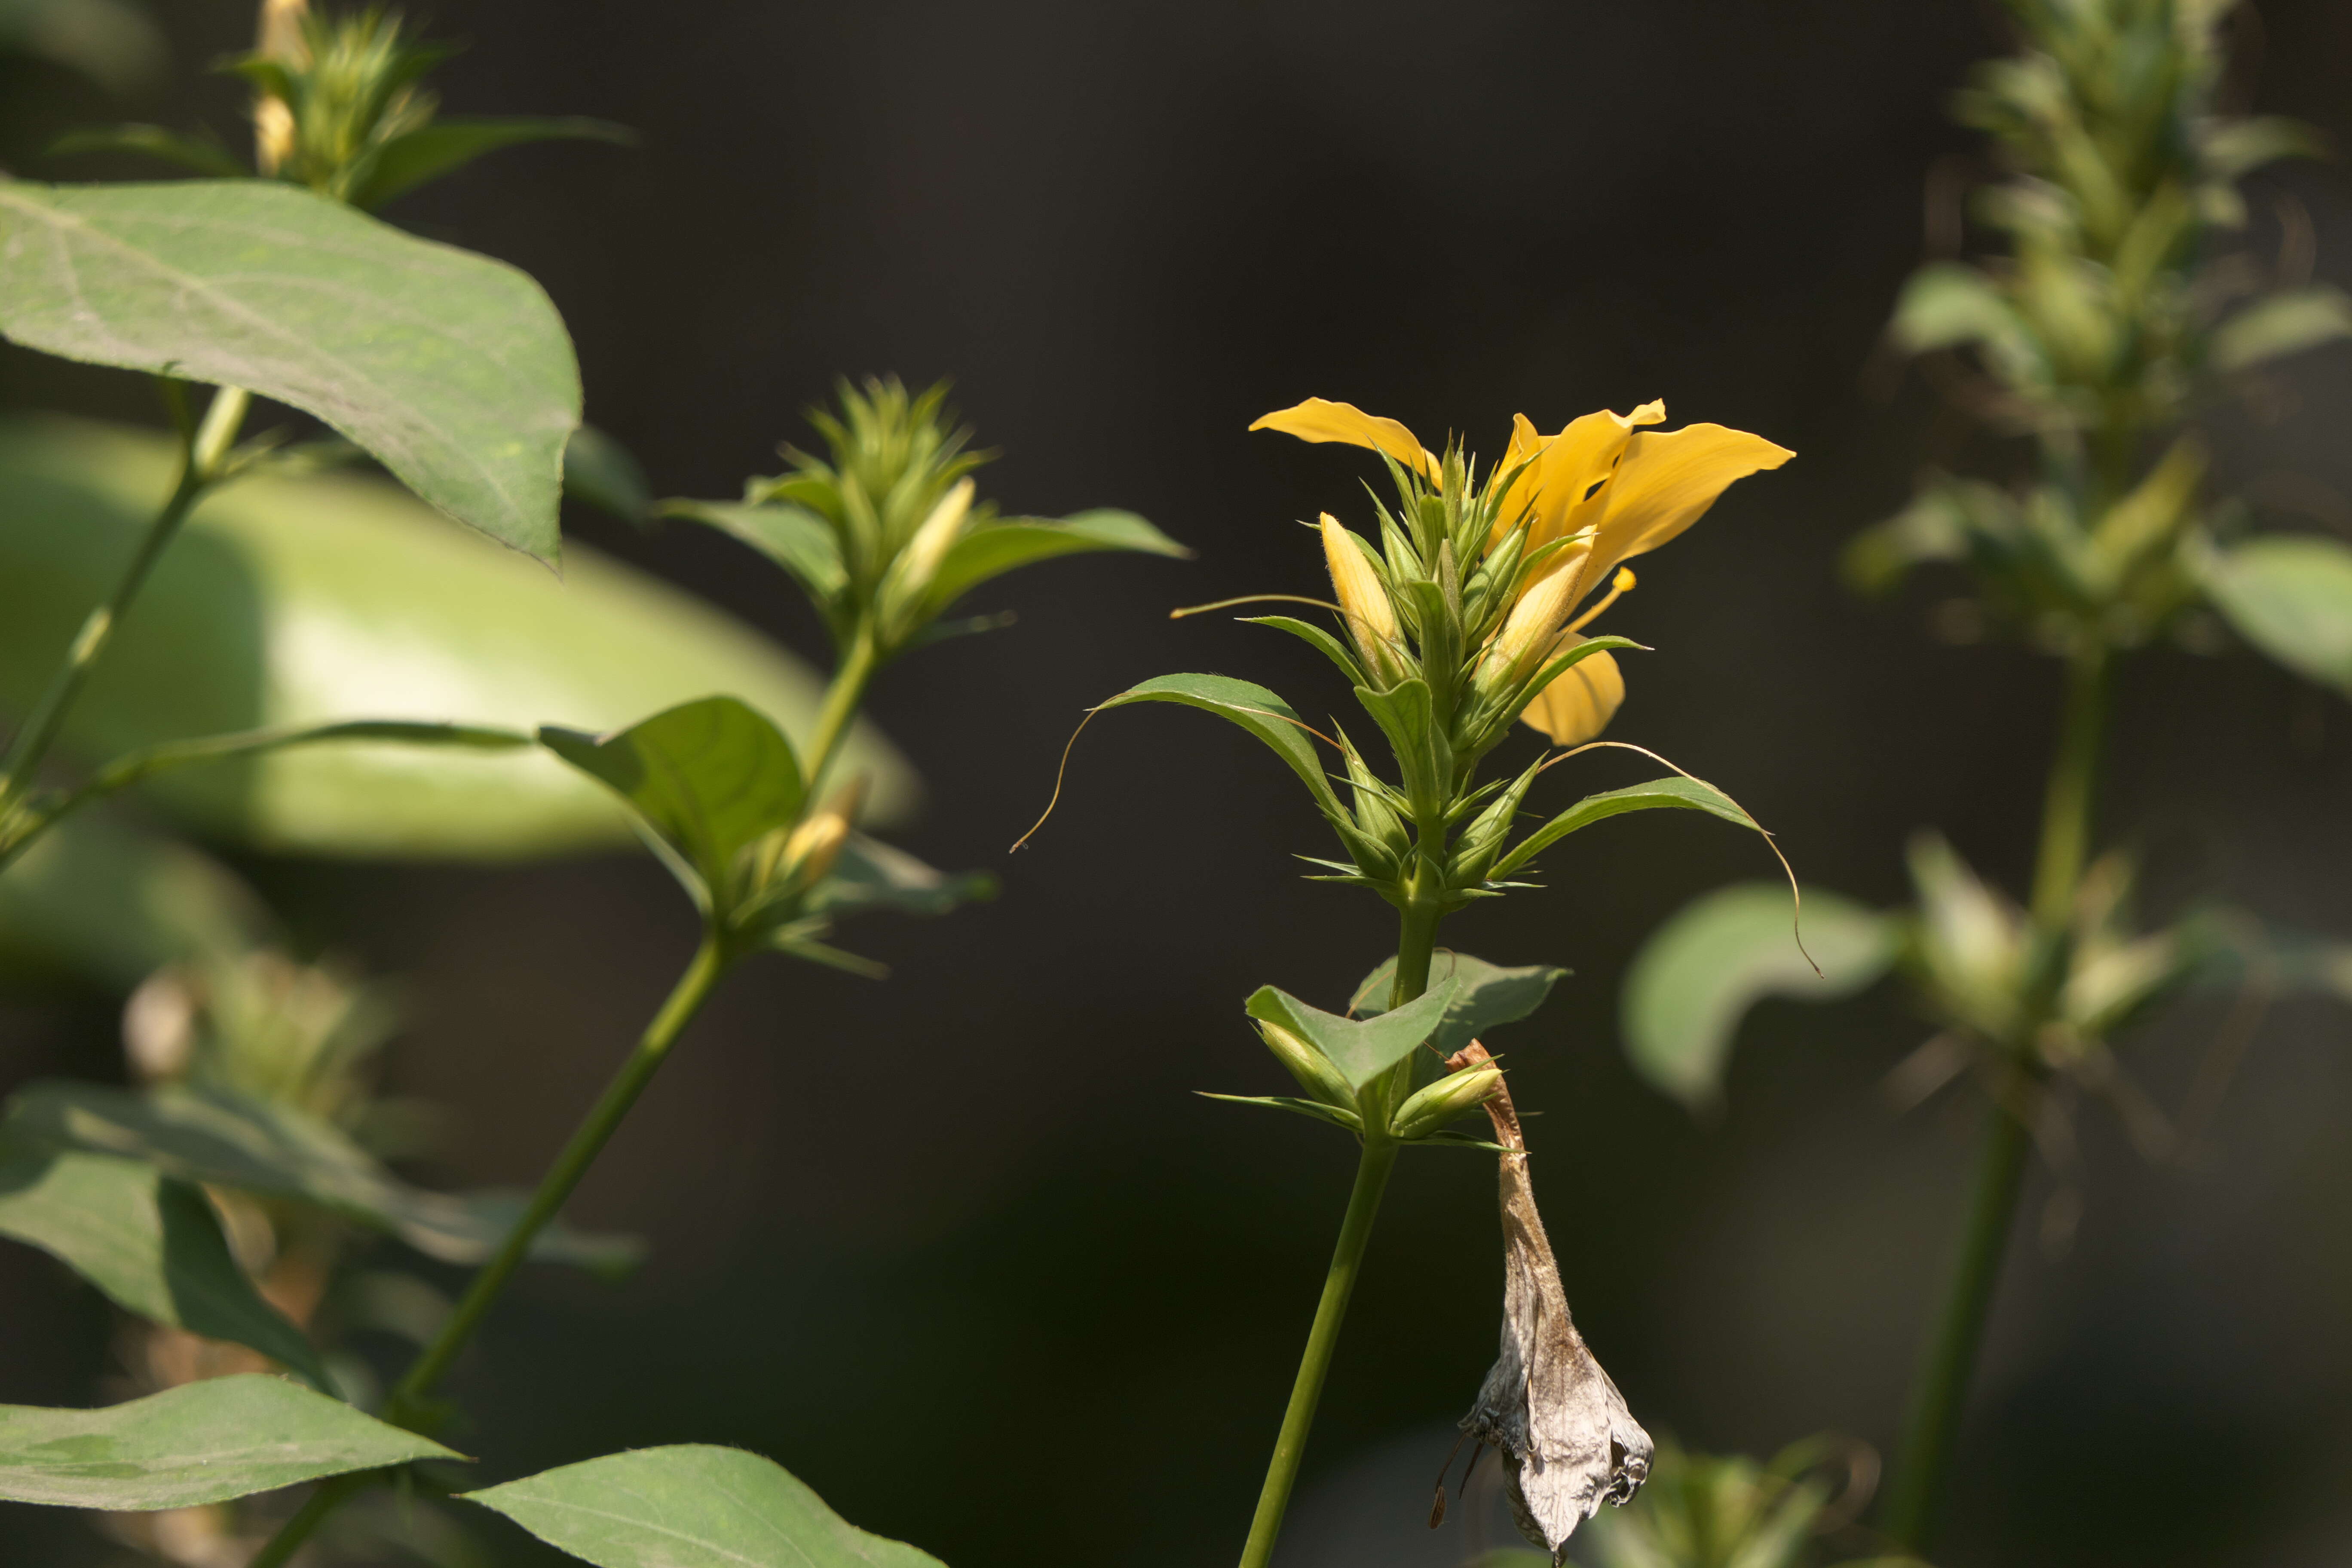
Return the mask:
<svg viewBox="0 0 2352 1568"><path fill-rule="evenodd" d="M1740 1018L1764 997L1837 1001L1893 964L1896 922L1851 898L1804 891L1804 952L1785 886L1745 882L1693 900L1625 971L1625 1056L1653 1088L1691 1110L1722 1098Z"/></svg>

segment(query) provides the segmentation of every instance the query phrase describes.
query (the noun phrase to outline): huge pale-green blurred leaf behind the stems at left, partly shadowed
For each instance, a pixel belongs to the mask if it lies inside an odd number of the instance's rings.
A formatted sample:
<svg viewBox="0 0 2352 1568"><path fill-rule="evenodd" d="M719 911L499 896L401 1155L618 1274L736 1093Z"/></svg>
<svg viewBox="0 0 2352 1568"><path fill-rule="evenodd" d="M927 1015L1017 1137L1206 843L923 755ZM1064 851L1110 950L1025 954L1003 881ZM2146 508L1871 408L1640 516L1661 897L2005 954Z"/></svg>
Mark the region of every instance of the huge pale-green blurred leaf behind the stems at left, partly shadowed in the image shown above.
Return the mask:
<svg viewBox="0 0 2352 1568"><path fill-rule="evenodd" d="M24 712L172 487L174 444L73 421L0 423L0 703ZM165 552L68 715L80 762L200 733L353 715L602 731L731 691L788 733L823 682L774 642L588 548L564 581L383 480L245 477ZM840 769L868 823L915 778L873 726ZM181 769L139 795L275 853L522 858L633 844L612 795L553 755L318 745Z"/></svg>

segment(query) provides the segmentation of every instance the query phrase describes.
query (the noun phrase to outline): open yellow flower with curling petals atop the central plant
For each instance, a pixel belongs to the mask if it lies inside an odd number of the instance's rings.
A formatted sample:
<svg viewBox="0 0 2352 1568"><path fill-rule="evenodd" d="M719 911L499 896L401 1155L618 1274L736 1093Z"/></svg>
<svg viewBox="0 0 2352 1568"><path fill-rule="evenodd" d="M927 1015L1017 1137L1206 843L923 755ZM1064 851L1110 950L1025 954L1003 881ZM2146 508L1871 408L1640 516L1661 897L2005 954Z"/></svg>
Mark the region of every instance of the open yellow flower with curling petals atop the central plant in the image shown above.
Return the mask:
<svg viewBox="0 0 2352 1568"><path fill-rule="evenodd" d="M1519 679L1536 661L1550 658L1602 607L1581 621L1569 621L1576 604L1606 583L1618 567L1668 543L1705 515L1715 498L1736 480L1778 468L1797 456L1762 435L1726 425L1684 425L1651 430L1665 423L1663 402L1644 402L1632 414L1602 409L1569 421L1559 435L1538 435L1526 414L1515 414L1510 447L1489 473L1489 484L1517 470L1503 491L1491 550L1526 520L1526 548L1569 541L1512 604L1503 630L1489 649L1496 672L1517 670ZM1437 480L1437 458L1395 418L1378 418L1345 402L1308 397L1249 425L1284 430L1308 442L1350 442L1385 451L1425 480ZM1621 574L1616 592L1632 585ZM1616 597L1611 592L1611 597ZM1609 654L1592 654L1571 665L1536 693L1524 719L1557 745L1578 745L1597 736L1618 703L1625 701L1625 677Z"/></svg>

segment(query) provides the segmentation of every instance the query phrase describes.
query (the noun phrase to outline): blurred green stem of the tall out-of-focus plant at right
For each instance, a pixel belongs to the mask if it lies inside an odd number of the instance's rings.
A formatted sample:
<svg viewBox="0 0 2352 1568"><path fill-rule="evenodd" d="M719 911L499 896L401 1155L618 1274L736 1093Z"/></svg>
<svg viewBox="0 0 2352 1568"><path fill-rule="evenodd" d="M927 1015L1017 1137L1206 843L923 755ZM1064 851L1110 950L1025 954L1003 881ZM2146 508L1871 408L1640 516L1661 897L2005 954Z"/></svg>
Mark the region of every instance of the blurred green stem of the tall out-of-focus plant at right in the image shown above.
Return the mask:
<svg viewBox="0 0 2352 1568"><path fill-rule="evenodd" d="M2091 856L2091 811L2098 788L2100 731L2107 717L2107 651L2089 646L2067 661L2065 715L2051 778L2042 806L2042 846L2034 856L2032 943L2042 978L2034 983L2034 1011L2049 1004L2063 980L2065 926L2074 912L2082 867ZM1924 1554L1933 1540L1936 1509L1943 1500L1945 1472L1959 1422L1969 1408L1969 1385L1976 1356L1992 1316L1992 1295L2002 1279L2002 1255L2016 1225L2018 1190L2025 1178L2030 1114L2034 1088L2032 1037L2039 1023L2027 1023L2018 1039L2006 1041L2004 1072L2023 1091L2023 1105L1994 1103L1985 1140L1976 1157L1976 1190L1969 1220L1959 1237L1936 1328L1919 1359L1910 1413L1903 1425L1903 1448L1886 1486L1886 1530L1893 1540Z"/></svg>

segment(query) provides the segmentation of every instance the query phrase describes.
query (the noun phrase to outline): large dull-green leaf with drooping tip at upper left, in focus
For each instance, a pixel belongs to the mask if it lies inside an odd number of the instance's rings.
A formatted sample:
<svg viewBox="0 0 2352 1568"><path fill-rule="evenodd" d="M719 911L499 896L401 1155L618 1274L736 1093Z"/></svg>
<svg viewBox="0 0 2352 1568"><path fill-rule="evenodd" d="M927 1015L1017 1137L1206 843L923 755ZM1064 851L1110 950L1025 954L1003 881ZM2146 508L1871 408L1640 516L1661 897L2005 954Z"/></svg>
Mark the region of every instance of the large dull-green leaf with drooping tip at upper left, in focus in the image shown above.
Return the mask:
<svg viewBox="0 0 2352 1568"><path fill-rule="evenodd" d="M0 181L0 334L240 386L548 564L581 378L536 282L275 181Z"/></svg>

